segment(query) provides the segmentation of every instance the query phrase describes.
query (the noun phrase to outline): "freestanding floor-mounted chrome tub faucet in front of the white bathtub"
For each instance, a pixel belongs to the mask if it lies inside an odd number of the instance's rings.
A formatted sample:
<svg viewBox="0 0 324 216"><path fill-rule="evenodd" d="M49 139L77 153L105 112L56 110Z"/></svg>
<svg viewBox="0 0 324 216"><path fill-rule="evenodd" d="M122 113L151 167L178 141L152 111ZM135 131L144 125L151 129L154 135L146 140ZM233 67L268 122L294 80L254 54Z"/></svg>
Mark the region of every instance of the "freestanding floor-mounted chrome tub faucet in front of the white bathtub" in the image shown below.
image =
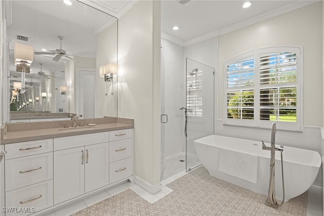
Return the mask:
<svg viewBox="0 0 324 216"><path fill-rule="evenodd" d="M265 201L265 204L273 207L273 208L278 208L280 205L282 205L282 203L284 203L284 200L282 200L281 204L278 204L276 199L275 199L275 188L274 188L274 182L275 182L275 178L274 178L274 162L275 162L275 151L284 151L284 147L280 146L275 147L275 133L276 133L276 124L275 122L272 123L272 130L271 130L271 146L268 147L264 144L263 140L262 140L262 149L263 150L270 150L271 151L271 157L270 157L270 179L269 179L269 190L268 190L268 198ZM281 165L282 165L282 157L281 157ZM281 168L282 169L282 168ZM282 175L283 176L283 175ZM283 179L282 179L282 183L283 183ZM285 192L284 192L285 193Z"/></svg>

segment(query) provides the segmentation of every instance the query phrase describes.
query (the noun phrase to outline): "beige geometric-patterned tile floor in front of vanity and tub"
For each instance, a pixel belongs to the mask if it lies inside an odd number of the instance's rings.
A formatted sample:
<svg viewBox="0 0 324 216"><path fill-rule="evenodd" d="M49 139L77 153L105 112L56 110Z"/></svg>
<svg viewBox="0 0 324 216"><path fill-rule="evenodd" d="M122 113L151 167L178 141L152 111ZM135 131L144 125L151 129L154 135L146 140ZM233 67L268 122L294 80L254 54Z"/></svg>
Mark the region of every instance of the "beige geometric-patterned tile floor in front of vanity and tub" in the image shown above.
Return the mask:
<svg viewBox="0 0 324 216"><path fill-rule="evenodd" d="M154 203L131 189L80 210L84 215L306 215L307 192L279 209L264 205L265 196L209 175L199 167L168 185L173 192Z"/></svg>

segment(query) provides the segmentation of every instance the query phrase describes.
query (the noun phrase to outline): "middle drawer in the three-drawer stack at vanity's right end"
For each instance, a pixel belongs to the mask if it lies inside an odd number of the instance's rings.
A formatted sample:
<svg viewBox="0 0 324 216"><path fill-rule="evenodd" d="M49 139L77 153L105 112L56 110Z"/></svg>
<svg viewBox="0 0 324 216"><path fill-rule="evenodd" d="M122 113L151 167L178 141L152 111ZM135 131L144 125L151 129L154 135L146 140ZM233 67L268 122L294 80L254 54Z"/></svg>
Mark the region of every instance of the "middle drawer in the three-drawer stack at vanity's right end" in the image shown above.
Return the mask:
<svg viewBox="0 0 324 216"><path fill-rule="evenodd" d="M132 139L109 142L109 162L132 157Z"/></svg>

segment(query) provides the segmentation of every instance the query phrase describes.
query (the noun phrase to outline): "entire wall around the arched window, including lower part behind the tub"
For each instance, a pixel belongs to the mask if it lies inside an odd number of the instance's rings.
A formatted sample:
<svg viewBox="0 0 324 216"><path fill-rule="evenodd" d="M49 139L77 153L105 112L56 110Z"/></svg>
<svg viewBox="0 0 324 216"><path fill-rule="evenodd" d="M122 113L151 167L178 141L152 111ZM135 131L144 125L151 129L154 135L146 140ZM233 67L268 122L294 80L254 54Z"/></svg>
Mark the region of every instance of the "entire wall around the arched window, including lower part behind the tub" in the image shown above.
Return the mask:
<svg viewBox="0 0 324 216"><path fill-rule="evenodd" d="M224 71L228 59L259 47L299 45L304 47L303 132L278 130L276 143L320 153L323 126L322 2L219 36L218 100L215 134L270 142L270 129L224 126ZM316 92L314 94L314 92ZM285 150L284 150L285 155ZM284 156L285 157L285 156ZM322 185L322 172L314 185Z"/></svg>

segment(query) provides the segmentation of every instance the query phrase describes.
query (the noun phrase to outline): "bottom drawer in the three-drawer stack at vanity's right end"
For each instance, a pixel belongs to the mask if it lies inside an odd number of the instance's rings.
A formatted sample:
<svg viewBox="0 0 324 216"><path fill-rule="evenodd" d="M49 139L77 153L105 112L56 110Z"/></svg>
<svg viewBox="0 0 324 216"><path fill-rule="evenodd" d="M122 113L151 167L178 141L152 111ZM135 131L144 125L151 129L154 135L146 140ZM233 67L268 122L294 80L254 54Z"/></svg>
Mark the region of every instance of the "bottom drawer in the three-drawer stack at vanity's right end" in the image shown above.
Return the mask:
<svg viewBox="0 0 324 216"><path fill-rule="evenodd" d="M133 174L133 158L109 164L109 184L127 178Z"/></svg>

